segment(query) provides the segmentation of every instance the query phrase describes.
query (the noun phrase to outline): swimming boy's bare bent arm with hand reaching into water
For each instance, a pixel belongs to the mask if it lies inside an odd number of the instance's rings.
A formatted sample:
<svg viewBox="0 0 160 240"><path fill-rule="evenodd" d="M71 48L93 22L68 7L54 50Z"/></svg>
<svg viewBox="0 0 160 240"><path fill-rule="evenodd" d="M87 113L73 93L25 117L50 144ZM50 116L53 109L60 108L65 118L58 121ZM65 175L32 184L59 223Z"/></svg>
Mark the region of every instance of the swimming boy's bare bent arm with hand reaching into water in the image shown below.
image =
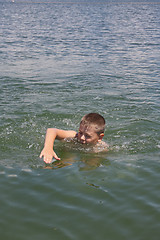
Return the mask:
<svg viewBox="0 0 160 240"><path fill-rule="evenodd" d="M40 158L43 157L44 162L51 163L52 158L60 160L57 154L53 150L55 139L63 140L65 138L74 138L76 136L75 131L66 131L56 128L48 128L46 132L46 138L44 143L44 148L40 154Z"/></svg>

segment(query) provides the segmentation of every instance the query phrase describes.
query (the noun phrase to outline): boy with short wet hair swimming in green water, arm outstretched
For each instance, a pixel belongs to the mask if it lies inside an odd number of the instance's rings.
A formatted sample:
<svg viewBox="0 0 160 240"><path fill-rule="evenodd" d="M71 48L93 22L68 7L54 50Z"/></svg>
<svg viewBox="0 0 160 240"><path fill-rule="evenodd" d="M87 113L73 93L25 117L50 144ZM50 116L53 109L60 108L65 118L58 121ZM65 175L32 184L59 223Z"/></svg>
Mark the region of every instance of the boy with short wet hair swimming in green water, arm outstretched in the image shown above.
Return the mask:
<svg viewBox="0 0 160 240"><path fill-rule="evenodd" d="M80 122L78 133L72 130L48 128L40 158L43 157L45 163L51 163L52 158L60 160L53 150L55 139L75 138L81 144L96 146L95 151L107 151L108 145L102 141L104 129L105 119L98 113L85 115Z"/></svg>

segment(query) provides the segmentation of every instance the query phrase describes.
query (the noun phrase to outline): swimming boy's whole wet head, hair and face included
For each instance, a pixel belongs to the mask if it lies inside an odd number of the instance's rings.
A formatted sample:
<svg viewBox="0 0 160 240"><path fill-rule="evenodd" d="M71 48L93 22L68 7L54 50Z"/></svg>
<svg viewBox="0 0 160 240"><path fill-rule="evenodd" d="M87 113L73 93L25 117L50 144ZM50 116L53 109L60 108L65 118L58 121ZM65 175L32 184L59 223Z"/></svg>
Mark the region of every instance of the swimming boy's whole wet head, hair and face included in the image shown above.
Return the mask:
<svg viewBox="0 0 160 240"><path fill-rule="evenodd" d="M104 129L105 119L98 113L89 113L80 122L78 140L81 143L96 144L102 140Z"/></svg>

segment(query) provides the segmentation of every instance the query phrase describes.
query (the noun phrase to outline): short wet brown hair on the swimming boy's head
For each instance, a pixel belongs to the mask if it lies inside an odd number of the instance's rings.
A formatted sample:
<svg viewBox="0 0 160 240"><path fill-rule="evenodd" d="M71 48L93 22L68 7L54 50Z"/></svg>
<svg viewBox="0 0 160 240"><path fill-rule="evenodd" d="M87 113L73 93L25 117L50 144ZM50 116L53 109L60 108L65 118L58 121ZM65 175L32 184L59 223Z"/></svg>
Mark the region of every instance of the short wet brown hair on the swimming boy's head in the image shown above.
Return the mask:
<svg viewBox="0 0 160 240"><path fill-rule="evenodd" d="M81 124L86 126L90 126L91 124L94 125L97 134L104 133L105 130L105 119L98 113L89 113L85 115L80 122L80 125Z"/></svg>

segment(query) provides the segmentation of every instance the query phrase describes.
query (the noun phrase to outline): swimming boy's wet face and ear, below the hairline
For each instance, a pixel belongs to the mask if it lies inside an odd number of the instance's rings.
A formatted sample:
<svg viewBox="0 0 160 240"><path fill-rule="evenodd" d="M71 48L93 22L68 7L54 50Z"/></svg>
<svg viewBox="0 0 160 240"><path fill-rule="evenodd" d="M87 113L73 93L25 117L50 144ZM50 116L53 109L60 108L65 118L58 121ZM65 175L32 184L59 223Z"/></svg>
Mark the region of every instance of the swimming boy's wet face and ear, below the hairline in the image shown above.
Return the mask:
<svg viewBox="0 0 160 240"><path fill-rule="evenodd" d="M96 144L102 140L103 136L103 133L100 135L96 133L94 125L85 126L80 124L77 139L82 144Z"/></svg>

